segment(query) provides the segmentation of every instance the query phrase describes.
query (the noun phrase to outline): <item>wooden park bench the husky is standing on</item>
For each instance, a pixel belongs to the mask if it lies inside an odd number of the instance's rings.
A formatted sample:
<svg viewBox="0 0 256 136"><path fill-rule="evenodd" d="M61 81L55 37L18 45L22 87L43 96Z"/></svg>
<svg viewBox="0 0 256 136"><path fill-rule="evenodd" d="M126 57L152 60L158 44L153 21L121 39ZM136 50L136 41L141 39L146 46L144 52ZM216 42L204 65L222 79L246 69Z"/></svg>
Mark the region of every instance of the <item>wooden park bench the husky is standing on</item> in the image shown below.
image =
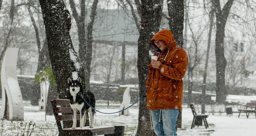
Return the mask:
<svg viewBox="0 0 256 136"><path fill-rule="evenodd" d="M72 114L70 107L69 99L54 99L51 101L52 110L55 116L56 124L58 127L59 135L58 136L124 136L125 126L94 126L89 128L89 119L88 114L86 115L87 127L76 127L72 128L63 128L63 121L72 122ZM76 114L77 124L79 124L80 114ZM62 124L61 124L62 123ZM72 123L70 124L72 125ZM71 127L71 126L70 126Z"/></svg>

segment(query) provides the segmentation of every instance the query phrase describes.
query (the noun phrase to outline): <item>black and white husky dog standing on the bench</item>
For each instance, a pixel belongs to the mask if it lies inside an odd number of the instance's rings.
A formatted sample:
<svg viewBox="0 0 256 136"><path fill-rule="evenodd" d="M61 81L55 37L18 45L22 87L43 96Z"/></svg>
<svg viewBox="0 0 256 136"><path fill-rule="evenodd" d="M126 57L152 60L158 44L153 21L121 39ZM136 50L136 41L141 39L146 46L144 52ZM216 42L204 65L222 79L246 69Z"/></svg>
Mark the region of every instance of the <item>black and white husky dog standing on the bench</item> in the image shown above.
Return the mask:
<svg viewBox="0 0 256 136"><path fill-rule="evenodd" d="M80 127L84 127L86 117L85 113L89 112L90 114L90 128L93 128L93 115L95 110L92 109L89 105L95 108L95 97L91 91L83 91L81 85L81 77L78 77L76 80L71 79L70 77L67 79L68 87L69 87L69 99L70 99L70 107L72 108L72 116L73 116L73 126L72 129L76 128L76 112L80 113ZM84 100L86 102L84 102ZM87 105L87 103L89 105Z"/></svg>

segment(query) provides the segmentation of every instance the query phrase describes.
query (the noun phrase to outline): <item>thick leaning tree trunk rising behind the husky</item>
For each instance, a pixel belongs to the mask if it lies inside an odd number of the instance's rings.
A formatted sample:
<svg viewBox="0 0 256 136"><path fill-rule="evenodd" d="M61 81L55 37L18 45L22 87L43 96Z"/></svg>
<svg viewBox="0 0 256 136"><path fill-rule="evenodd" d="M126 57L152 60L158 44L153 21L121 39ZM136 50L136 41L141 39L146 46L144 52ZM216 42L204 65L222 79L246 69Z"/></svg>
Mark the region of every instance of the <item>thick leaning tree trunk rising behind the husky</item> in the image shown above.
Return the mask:
<svg viewBox="0 0 256 136"><path fill-rule="evenodd" d="M70 15L62 0L40 0L40 5L59 98L68 99L67 78L72 77L72 72L76 71L70 59L73 49L69 34Z"/></svg>

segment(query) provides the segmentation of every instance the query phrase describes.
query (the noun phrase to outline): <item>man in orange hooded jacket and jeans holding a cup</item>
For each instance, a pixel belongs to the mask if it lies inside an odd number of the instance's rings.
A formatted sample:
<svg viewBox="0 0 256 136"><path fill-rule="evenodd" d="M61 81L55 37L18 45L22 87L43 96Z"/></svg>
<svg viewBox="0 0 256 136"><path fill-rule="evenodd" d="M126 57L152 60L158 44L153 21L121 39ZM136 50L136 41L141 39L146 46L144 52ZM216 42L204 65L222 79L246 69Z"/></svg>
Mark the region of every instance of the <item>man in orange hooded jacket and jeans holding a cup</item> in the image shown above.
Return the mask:
<svg viewBox="0 0 256 136"><path fill-rule="evenodd" d="M175 126L181 111L182 78L186 73L188 57L169 30L157 32L150 42L160 53L155 52L157 60L151 59L149 64L147 108L151 111L157 136L177 136Z"/></svg>

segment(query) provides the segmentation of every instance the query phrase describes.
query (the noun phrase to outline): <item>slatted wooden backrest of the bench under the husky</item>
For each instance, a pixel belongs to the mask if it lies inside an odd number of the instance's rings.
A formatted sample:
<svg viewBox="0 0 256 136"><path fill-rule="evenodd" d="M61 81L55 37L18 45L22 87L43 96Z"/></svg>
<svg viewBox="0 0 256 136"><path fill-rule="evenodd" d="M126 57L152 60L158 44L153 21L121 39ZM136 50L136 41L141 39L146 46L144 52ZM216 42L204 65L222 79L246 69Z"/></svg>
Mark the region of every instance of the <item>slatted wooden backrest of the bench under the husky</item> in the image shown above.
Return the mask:
<svg viewBox="0 0 256 136"><path fill-rule="evenodd" d="M52 111L55 116L55 120L58 126L59 132L63 129L61 127L61 121L69 121L73 120L72 117L72 109L70 107L70 100L69 99L54 99L51 101L52 104ZM76 120L80 119L80 114L76 114ZM86 114L86 125L88 125L88 114Z"/></svg>

